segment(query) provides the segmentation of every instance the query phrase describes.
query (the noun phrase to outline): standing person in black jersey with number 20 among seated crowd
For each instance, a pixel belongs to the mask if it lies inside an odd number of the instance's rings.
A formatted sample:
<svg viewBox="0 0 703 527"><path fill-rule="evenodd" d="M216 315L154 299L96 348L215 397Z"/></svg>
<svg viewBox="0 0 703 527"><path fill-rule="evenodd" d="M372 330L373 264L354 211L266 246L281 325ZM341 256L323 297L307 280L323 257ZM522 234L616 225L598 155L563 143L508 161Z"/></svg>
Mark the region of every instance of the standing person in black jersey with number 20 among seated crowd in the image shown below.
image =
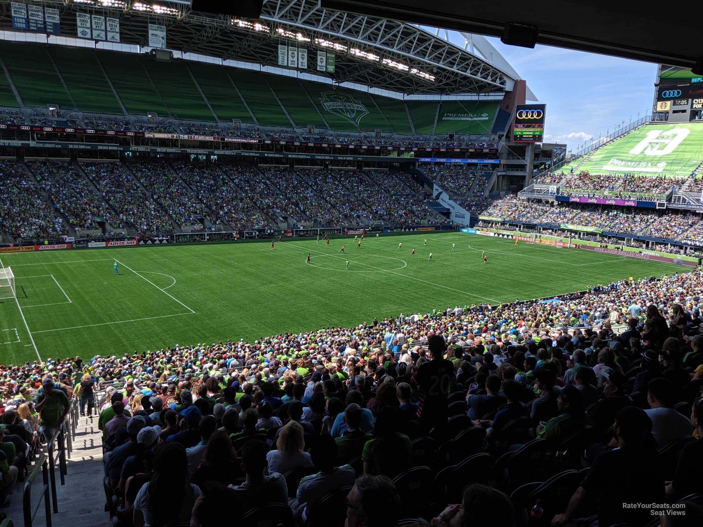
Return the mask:
<svg viewBox="0 0 703 527"><path fill-rule="evenodd" d="M433 335L427 342L432 360L420 366L413 375L413 383L420 389L418 417L420 427L430 431L447 420L446 399L456 385L454 365L444 358L446 342L441 335Z"/></svg>

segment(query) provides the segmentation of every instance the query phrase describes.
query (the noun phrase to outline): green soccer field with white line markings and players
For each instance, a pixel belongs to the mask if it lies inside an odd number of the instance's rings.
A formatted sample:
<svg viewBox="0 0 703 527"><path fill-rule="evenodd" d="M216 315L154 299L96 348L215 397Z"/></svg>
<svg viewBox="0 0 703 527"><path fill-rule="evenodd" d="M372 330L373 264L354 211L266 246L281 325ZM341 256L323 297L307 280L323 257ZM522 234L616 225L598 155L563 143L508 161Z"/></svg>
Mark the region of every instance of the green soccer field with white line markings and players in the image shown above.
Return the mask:
<svg viewBox="0 0 703 527"><path fill-rule="evenodd" d="M413 234L369 235L360 249L350 237L288 238L273 250L262 241L5 254L17 299L0 300L0 363L252 341L686 269L458 232L426 238L427 247Z"/></svg>

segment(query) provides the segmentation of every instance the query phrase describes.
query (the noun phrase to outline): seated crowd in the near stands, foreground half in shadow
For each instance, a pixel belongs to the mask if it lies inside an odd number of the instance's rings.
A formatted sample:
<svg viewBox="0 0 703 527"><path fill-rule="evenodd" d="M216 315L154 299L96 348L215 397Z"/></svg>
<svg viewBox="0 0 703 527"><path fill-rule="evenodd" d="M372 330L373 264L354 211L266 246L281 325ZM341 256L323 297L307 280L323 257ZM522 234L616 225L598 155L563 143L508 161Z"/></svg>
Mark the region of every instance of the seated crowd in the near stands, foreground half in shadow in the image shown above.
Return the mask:
<svg viewBox="0 0 703 527"><path fill-rule="evenodd" d="M330 527L648 526L650 509L623 504L683 500L688 523L663 525L697 525L702 290L692 271L549 303L0 365L0 449L51 436L68 398L97 407L118 525L211 527L224 499L237 523ZM27 468L8 459L4 491Z"/></svg>

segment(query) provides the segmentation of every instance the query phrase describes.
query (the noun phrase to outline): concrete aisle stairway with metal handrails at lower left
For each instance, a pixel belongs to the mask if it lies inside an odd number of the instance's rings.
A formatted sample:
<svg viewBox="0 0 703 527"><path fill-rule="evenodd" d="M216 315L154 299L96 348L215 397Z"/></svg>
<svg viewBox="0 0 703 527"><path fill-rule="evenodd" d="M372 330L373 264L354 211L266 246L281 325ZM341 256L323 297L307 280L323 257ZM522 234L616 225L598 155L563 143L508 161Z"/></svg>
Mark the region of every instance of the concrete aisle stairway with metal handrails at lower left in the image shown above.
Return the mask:
<svg viewBox="0 0 703 527"><path fill-rule="evenodd" d="M46 445L44 445L46 453ZM110 516L105 512L103 490L103 448L98 430L98 417L79 417L73 451L67 458L65 485L61 485L58 462L56 463L56 495L58 514L51 514L52 527L111 527ZM39 457L37 457L37 460ZM15 526L24 524L22 514L22 492L25 483L17 483L15 492L8 496L10 506L1 509L13 520ZM32 505L40 499L42 488L41 471L32 483ZM52 511L53 513L53 511ZM45 526L44 504L39 506L34 526Z"/></svg>

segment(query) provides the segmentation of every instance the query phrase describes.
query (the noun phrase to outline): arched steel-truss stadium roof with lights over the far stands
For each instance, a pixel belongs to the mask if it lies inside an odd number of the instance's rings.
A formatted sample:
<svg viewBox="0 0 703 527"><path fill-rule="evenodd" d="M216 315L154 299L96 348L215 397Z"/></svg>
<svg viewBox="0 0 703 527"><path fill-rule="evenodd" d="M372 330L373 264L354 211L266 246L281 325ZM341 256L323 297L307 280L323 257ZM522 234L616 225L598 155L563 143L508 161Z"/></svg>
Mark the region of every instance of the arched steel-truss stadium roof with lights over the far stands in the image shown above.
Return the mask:
<svg viewBox="0 0 703 527"><path fill-rule="evenodd" d="M9 28L9 2L1 4L0 25ZM105 14L120 19L125 44L147 46L148 24L160 24L167 27L171 49L274 66L278 44L297 43L308 48L312 65L316 51L335 53L334 73L311 73L399 93L500 93L512 90L519 78L495 50L481 56L417 25L322 8L319 1L264 0L258 20L192 11L190 2L181 0L46 4L60 9L62 34L76 34L77 12Z"/></svg>

